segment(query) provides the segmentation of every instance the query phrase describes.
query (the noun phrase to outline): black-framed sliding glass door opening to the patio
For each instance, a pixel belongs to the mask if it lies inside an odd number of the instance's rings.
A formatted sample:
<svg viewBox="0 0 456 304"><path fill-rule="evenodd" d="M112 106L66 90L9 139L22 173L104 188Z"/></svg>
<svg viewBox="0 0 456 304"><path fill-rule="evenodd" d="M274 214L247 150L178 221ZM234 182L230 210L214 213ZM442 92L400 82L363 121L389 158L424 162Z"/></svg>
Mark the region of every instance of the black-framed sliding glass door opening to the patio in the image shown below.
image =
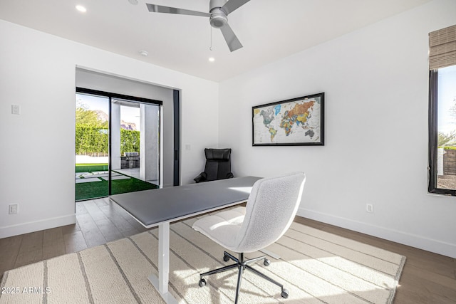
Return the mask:
<svg viewBox="0 0 456 304"><path fill-rule="evenodd" d="M159 187L160 108L77 88L76 201Z"/></svg>

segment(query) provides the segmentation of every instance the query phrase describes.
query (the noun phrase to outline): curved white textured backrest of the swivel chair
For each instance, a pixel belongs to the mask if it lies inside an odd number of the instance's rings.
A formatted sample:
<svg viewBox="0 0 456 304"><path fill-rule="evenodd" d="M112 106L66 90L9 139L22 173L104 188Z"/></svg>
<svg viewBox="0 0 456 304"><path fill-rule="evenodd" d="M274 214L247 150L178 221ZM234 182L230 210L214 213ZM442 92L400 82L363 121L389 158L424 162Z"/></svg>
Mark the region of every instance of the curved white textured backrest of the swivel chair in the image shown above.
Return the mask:
<svg viewBox="0 0 456 304"><path fill-rule="evenodd" d="M305 182L306 174L297 172L254 184L237 234L237 252L257 251L284 235L298 211Z"/></svg>

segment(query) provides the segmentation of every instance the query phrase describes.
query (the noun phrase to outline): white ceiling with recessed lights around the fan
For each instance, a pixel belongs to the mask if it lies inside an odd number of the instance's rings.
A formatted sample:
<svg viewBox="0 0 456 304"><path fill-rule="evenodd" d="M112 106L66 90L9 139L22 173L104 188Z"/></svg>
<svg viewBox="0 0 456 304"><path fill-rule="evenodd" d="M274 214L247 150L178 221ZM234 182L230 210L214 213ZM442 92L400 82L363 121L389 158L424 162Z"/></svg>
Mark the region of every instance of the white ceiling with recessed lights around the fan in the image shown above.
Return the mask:
<svg viewBox="0 0 456 304"><path fill-rule="evenodd" d="M199 16L150 13L145 3L194 11L209 0L1 0L0 19L172 70L221 81L430 0L251 0L228 16L233 53ZM86 6L87 12L75 6ZM139 51L149 56L143 57ZM210 63L209 57L215 61Z"/></svg>

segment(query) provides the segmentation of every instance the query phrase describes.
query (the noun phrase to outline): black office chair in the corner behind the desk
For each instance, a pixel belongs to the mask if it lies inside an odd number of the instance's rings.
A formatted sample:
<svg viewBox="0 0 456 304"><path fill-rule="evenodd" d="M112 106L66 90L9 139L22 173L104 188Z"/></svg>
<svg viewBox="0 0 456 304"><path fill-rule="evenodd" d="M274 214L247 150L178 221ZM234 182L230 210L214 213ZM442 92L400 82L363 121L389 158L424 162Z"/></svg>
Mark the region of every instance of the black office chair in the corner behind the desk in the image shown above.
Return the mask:
<svg viewBox="0 0 456 304"><path fill-rule="evenodd" d="M209 182L217 179L231 179L231 149L204 149L206 166L195 179L195 182Z"/></svg>

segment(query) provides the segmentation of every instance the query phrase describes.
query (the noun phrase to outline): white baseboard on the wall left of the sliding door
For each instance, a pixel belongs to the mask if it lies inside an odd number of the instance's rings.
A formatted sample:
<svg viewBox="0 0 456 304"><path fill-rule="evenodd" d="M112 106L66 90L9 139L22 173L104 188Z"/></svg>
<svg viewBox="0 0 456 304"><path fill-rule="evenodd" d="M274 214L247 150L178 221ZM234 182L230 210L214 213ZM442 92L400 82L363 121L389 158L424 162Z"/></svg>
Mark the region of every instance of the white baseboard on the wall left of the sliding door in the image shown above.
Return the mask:
<svg viewBox="0 0 456 304"><path fill-rule="evenodd" d="M0 239L71 224L76 224L76 214L58 216L51 219L43 219L41 221L29 221L27 223L11 226L3 226L0 227Z"/></svg>

